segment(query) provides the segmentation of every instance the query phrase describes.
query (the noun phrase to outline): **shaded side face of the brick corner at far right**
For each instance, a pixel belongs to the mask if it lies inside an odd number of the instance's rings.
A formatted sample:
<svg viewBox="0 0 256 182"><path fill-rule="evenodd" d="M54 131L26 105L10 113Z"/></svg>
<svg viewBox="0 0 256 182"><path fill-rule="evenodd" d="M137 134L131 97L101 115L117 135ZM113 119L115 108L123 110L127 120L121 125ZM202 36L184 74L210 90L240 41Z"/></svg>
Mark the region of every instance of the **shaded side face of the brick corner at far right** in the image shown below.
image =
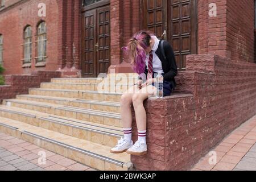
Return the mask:
<svg viewBox="0 0 256 182"><path fill-rule="evenodd" d="M227 46L232 60L254 62L254 0L227 1Z"/></svg>

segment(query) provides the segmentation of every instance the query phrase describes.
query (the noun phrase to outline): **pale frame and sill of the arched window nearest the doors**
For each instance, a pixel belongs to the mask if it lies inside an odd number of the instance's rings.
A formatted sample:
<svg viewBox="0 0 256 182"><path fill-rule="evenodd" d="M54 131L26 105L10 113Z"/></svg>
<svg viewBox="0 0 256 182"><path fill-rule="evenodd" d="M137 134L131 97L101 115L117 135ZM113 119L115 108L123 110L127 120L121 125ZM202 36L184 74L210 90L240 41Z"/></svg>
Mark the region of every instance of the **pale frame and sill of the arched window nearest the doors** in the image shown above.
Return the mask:
<svg viewBox="0 0 256 182"><path fill-rule="evenodd" d="M44 24L44 31L43 32L39 32L39 28L40 26ZM42 30L42 27L41 27ZM47 59L47 24L46 22L42 21L38 24L38 26L36 26L36 63L44 63L46 62ZM43 43L42 43L43 42ZM41 45L42 43L42 45ZM41 46L41 47L40 47ZM39 52L40 48L43 49L43 52Z"/></svg>

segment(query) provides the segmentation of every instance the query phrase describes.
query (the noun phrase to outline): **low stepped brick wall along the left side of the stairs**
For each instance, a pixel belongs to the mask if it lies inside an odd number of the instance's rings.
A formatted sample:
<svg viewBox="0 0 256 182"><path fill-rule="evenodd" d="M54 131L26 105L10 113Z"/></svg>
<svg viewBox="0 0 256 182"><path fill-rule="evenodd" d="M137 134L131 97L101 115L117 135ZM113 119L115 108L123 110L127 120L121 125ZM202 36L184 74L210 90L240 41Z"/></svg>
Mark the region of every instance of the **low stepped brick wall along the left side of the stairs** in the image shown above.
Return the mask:
<svg viewBox="0 0 256 182"><path fill-rule="evenodd" d="M28 94L29 88L39 88L42 82L61 77L60 72L35 71L31 75L6 75L4 86L0 86L0 102L15 98L18 94Z"/></svg>

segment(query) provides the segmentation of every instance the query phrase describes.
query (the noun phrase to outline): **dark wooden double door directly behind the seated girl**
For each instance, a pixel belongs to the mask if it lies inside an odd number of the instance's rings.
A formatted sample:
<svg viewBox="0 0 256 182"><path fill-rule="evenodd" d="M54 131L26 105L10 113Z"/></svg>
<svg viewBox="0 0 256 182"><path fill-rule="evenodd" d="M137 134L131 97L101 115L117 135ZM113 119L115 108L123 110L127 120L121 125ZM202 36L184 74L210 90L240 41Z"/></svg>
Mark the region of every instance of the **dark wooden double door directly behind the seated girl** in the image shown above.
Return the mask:
<svg viewBox="0 0 256 182"><path fill-rule="evenodd" d="M197 53L196 0L143 0L143 27L174 49L179 71L185 71L186 56Z"/></svg>

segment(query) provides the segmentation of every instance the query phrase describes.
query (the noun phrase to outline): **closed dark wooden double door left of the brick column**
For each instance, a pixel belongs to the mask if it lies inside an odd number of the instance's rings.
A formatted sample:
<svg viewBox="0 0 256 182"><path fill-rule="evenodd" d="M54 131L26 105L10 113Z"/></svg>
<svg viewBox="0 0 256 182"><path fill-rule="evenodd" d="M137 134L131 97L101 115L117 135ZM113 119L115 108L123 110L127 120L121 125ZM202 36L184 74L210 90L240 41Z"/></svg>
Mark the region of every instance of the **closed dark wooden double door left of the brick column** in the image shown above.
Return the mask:
<svg viewBox="0 0 256 182"><path fill-rule="evenodd" d="M107 73L110 52L109 6L88 10L82 20L82 76Z"/></svg>

